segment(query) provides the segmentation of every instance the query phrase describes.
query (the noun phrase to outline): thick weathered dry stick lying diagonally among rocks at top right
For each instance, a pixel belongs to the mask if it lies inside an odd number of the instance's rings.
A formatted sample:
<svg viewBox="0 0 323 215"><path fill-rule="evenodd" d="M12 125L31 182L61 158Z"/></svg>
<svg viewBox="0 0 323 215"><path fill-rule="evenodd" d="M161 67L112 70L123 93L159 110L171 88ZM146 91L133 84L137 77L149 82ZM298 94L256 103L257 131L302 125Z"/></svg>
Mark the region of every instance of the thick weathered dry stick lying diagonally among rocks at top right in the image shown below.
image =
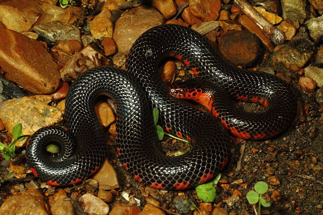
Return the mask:
<svg viewBox="0 0 323 215"><path fill-rule="evenodd" d="M256 11L245 0L234 0L234 4L241 9L276 45L283 44L285 36L282 30L276 28L266 20L258 11Z"/></svg>

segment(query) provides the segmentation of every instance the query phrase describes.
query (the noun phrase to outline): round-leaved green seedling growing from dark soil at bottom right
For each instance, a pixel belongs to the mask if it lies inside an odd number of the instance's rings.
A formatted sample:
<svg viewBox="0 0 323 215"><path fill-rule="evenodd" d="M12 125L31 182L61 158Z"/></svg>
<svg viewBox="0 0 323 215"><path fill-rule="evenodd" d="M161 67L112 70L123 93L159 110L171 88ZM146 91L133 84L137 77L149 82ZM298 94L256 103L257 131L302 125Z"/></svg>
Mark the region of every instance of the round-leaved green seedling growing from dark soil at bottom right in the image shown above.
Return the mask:
<svg viewBox="0 0 323 215"><path fill-rule="evenodd" d="M258 181L254 185L254 190L251 190L247 193L247 200L250 204L256 204L258 202L258 215L260 215L260 206L269 207L271 206L271 202L266 201L266 199L261 196L262 194L266 193L268 190L268 185L263 181ZM257 214L257 210L255 209L255 212Z"/></svg>

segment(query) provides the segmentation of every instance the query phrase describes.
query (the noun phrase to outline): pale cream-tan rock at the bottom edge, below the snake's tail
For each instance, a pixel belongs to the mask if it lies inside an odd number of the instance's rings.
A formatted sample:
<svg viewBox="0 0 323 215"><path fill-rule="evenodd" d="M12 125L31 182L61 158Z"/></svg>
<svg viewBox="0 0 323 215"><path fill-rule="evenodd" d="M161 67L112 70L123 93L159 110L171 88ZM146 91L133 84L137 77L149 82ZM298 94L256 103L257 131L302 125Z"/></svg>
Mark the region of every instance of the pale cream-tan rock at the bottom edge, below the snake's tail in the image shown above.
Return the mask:
<svg viewBox="0 0 323 215"><path fill-rule="evenodd" d="M98 197L85 193L81 197L84 203L84 211L90 214L105 215L109 213L109 205Z"/></svg>

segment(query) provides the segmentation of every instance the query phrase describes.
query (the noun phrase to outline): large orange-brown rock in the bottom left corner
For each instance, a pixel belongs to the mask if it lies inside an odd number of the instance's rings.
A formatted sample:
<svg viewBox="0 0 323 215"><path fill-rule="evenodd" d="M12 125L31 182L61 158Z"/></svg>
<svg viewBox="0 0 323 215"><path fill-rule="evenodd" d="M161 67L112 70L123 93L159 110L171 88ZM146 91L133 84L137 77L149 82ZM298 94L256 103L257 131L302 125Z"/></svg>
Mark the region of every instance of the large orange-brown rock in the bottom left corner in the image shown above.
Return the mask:
<svg viewBox="0 0 323 215"><path fill-rule="evenodd" d="M36 189L10 196L0 207L0 214L50 214L44 196Z"/></svg>

